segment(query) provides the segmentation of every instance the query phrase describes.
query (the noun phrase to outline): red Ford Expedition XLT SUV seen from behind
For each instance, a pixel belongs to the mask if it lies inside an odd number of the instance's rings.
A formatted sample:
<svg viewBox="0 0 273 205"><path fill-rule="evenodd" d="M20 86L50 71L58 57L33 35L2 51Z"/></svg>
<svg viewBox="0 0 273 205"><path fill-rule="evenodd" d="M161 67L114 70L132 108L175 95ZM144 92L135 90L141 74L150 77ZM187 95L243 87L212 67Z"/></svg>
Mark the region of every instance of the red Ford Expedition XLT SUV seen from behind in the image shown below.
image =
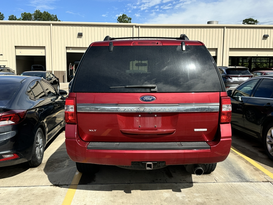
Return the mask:
<svg viewBox="0 0 273 205"><path fill-rule="evenodd" d="M231 147L231 102L209 51L183 34L134 38L106 36L82 57L65 103L69 157L80 172L214 171Z"/></svg>

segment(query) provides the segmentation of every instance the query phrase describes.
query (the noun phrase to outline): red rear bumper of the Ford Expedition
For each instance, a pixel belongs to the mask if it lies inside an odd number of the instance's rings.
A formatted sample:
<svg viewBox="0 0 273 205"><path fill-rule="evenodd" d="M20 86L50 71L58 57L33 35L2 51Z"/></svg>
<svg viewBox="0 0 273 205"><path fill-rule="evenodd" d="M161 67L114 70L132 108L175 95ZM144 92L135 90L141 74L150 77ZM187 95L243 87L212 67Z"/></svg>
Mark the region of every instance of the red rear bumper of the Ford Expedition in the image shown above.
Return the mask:
<svg viewBox="0 0 273 205"><path fill-rule="evenodd" d="M218 136L217 141L207 142L210 145L209 149L88 149L89 142L84 142L78 136L77 126L67 124L65 144L70 159L80 163L131 166L133 161L165 161L166 165L203 164L221 162L228 157L231 147L230 124L220 125L219 134L221 138Z"/></svg>

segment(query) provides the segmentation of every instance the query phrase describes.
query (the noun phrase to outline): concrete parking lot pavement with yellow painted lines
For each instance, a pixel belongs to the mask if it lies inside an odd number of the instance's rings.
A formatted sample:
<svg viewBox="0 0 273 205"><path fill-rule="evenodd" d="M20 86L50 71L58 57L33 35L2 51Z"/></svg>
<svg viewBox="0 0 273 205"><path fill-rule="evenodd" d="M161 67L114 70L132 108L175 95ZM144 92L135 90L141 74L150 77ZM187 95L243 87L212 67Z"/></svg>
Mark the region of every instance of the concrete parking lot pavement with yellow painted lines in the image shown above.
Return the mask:
<svg viewBox="0 0 273 205"><path fill-rule="evenodd" d="M63 130L39 167L0 167L0 204L272 204L273 161L249 136L233 130L232 140L228 158L210 174L192 175L183 165L146 171L98 165L81 174Z"/></svg>

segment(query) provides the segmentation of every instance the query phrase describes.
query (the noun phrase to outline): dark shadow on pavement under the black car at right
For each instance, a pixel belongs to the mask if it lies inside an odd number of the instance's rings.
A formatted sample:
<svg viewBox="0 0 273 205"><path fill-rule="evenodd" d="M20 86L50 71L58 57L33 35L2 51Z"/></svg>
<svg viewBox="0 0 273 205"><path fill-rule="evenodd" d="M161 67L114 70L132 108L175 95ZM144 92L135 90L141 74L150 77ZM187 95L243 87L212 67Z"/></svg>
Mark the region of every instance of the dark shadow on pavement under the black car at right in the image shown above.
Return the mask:
<svg viewBox="0 0 273 205"><path fill-rule="evenodd" d="M273 161L268 158L262 142L260 142L258 139L240 132L239 130L232 129L231 146L247 157L268 167L273 167Z"/></svg>

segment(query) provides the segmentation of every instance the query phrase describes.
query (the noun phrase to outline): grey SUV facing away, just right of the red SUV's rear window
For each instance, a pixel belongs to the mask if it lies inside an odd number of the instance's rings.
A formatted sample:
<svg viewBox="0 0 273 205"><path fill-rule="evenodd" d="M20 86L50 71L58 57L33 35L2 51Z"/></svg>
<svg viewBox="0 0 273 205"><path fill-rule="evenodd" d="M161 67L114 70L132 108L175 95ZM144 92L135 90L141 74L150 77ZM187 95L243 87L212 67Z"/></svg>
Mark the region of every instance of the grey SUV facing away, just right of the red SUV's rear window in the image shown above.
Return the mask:
<svg viewBox="0 0 273 205"><path fill-rule="evenodd" d="M244 81L252 78L247 67L244 66L218 66L226 90L233 90Z"/></svg>

